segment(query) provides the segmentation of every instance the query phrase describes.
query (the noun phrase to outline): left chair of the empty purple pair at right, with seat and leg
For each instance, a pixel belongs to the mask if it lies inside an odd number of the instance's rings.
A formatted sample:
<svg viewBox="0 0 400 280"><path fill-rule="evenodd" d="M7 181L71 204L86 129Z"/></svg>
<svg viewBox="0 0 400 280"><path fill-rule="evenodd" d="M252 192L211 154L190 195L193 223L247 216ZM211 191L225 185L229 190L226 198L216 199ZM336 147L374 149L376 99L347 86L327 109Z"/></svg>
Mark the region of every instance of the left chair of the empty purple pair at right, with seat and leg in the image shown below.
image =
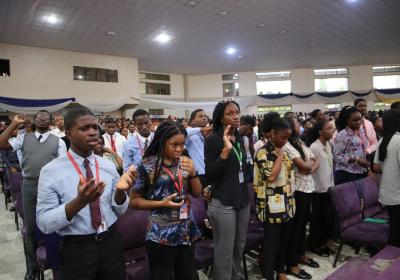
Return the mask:
<svg viewBox="0 0 400 280"><path fill-rule="evenodd" d="M340 246L333 267L336 267L344 243L383 246L387 242L389 227L387 224L363 221L361 201L354 182L340 184L329 190L335 207L340 229Z"/></svg>

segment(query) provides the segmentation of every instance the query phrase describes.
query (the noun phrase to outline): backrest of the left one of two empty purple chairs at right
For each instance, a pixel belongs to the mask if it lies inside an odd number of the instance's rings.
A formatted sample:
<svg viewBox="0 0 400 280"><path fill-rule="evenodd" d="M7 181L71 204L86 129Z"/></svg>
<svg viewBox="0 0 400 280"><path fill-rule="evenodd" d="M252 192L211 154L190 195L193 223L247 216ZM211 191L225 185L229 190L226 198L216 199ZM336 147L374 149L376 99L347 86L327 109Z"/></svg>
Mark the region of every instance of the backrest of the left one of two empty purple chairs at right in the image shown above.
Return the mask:
<svg viewBox="0 0 400 280"><path fill-rule="evenodd" d="M362 220L360 197L353 182L334 186L329 193L341 230Z"/></svg>

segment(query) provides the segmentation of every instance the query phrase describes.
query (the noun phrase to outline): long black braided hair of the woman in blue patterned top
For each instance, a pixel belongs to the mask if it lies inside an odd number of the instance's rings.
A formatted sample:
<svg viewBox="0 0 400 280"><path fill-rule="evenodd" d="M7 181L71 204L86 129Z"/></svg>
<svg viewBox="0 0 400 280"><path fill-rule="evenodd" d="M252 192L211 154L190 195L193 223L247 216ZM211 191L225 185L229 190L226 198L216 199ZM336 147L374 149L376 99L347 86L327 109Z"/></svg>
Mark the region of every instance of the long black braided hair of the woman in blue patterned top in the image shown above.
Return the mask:
<svg viewBox="0 0 400 280"><path fill-rule="evenodd" d="M156 165L154 169L154 180L152 184L152 189L154 189L157 183L158 177L160 176L161 172L160 167L161 164L164 162L165 143L167 142L168 139L178 134L183 134L186 138L187 135L186 129L183 127L182 124L171 120L166 120L162 122L157 127L157 130L154 133L153 140L150 142L149 147L147 148L147 150L143 155L143 159L150 156L156 157Z"/></svg>

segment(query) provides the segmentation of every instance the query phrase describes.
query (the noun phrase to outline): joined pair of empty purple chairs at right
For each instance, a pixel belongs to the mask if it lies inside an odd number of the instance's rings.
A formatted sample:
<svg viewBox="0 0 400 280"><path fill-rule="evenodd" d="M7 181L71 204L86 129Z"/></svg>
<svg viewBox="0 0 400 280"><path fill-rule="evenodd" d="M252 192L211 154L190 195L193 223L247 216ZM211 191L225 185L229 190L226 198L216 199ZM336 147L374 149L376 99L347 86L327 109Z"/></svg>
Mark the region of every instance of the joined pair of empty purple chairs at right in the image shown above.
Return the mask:
<svg viewBox="0 0 400 280"><path fill-rule="evenodd" d="M369 176L334 186L329 193L336 210L340 230L340 246L333 267L336 267L345 243L383 247L387 243L388 224L364 221L365 218L387 219L387 212L378 201L379 177Z"/></svg>

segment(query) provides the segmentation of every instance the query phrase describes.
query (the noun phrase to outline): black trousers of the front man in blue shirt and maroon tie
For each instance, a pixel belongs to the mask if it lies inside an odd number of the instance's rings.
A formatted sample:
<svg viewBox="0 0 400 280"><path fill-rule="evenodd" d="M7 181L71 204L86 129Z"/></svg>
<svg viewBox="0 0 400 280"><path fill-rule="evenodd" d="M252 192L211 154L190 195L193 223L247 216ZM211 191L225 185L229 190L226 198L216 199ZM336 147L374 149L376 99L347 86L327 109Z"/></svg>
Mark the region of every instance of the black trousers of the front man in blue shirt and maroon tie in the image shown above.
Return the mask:
<svg viewBox="0 0 400 280"><path fill-rule="evenodd" d="M117 230L102 241L65 237L60 259L63 280L125 279L123 241Z"/></svg>

